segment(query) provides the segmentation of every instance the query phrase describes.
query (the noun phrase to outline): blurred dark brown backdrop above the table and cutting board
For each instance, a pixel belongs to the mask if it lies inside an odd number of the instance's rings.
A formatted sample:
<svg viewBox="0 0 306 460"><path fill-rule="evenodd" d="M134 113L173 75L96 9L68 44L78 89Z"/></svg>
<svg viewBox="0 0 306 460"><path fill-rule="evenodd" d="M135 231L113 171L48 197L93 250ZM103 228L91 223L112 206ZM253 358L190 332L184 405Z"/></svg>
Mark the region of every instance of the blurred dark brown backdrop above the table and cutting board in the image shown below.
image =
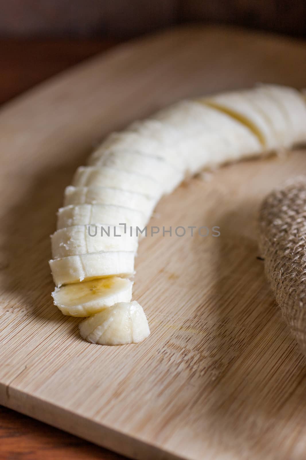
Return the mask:
<svg viewBox="0 0 306 460"><path fill-rule="evenodd" d="M0 35L126 39L189 22L306 36L306 0L0 0Z"/></svg>

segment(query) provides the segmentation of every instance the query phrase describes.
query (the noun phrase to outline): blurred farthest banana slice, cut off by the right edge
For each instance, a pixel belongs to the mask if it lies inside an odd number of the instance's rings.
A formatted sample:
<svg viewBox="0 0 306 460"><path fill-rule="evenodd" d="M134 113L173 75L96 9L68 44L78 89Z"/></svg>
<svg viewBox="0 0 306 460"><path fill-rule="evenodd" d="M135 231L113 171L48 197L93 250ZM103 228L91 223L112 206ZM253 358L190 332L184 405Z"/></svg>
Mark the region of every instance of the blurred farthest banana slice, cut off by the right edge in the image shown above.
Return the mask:
<svg viewBox="0 0 306 460"><path fill-rule="evenodd" d="M283 107L293 130L293 143L305 142L306 101L301 93L288 86L264 85L263 88L270 92Z"/></svg>

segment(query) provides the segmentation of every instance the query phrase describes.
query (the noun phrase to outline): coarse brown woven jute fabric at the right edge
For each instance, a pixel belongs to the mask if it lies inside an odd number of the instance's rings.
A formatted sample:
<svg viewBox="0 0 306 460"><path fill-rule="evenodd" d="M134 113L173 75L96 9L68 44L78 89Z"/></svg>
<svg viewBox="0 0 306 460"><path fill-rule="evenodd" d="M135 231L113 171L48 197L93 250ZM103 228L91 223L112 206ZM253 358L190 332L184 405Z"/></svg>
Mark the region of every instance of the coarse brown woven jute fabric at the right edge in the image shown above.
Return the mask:
<svg viewBox="0 0 306 460"><path fill-rule="evenodd" d="M276 301L306 355L306 177L263 201L259 247Z"/></svg>

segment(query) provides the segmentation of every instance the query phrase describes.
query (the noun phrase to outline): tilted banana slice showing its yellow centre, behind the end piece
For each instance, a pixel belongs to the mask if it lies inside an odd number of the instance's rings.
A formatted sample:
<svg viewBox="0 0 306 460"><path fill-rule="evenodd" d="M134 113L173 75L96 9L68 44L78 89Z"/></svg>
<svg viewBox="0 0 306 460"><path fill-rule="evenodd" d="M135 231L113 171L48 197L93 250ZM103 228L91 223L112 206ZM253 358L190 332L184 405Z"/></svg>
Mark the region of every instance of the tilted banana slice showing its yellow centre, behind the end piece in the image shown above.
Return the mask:
<svg viewBox="0 0 306 460"><path fill-rule="evenodd" d="M132 287L127 278L109 276L55 288L52 297L63 315L90 316L118 302L129 302Z"/></svg>

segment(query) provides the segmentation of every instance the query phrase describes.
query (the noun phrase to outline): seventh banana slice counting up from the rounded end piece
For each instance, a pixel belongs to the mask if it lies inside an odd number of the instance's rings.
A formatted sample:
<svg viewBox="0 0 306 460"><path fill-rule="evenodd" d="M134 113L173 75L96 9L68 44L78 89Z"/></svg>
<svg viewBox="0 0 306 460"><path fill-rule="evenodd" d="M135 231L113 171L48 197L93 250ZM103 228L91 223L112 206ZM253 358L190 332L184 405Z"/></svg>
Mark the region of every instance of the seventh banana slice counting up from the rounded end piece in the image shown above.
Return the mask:
<svg viewBox="0 0 306 460"><path fill-rule="evenodd" d="M129 192L144 193L155 198L156 201L160 199L163 192L162 184L150 177L106 166L78 167L72 185L76 187L118 187Z"/></svg>

